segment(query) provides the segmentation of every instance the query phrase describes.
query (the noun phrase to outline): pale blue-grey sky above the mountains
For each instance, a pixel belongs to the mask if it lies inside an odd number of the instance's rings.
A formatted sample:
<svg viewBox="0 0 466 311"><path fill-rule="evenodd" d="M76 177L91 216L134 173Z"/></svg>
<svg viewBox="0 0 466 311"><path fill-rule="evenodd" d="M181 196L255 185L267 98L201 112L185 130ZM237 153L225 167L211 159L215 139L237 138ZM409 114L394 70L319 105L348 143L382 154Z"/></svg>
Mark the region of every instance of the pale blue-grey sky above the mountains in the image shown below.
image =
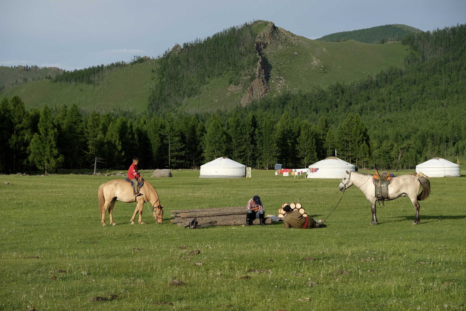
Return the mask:
<svg viewBox="0 0 466 311"><path fill-rule="evenodd" d="M254 20L316 39L405 24L423 31L466 23L466 0L0 0L0 65L82 69Z"/></svg>

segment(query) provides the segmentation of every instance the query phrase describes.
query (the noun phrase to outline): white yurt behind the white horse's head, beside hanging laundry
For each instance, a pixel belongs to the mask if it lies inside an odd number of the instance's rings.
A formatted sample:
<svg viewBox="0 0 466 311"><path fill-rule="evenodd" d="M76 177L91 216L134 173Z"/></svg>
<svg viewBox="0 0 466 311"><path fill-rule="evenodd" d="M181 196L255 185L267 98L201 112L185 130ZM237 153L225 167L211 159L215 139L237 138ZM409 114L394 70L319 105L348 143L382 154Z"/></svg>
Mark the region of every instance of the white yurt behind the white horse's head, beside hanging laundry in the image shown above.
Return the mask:
<svg viewBox="0 0 466 311"><path fill-rule="evenodd" d="M307 178L343 178L346 171L355 171L355 168L356 166L342 159L329 157L311 164Z"/></svg>

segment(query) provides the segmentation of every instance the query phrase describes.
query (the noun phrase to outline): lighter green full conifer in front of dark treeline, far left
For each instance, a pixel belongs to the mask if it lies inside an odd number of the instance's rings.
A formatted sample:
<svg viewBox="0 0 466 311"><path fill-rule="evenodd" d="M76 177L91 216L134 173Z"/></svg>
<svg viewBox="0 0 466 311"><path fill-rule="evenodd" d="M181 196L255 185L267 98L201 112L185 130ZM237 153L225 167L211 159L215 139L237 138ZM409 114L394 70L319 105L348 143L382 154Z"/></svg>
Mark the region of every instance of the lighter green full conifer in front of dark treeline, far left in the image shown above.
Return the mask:
<svg viewBox="0 0 466 311"><path fill-rule="evenodd" d="M34 134L29 146L29 160L37 168L48 171L57 169L63 162L63 155L57 148L58 131L52 122L52 115L47 104L41 111L39 119L39 132Z"/></svg>

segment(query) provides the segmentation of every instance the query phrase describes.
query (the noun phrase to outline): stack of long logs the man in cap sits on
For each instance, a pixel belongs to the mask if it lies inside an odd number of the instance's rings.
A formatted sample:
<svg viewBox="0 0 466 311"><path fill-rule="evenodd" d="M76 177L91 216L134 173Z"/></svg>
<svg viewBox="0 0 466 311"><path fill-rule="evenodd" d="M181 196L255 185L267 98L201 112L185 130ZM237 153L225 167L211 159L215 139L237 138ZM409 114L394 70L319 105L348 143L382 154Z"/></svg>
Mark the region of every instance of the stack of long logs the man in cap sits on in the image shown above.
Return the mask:
<svg viewBox="0 0 466 311"><path fill-rule="evenodd" d="M196 218L199 225L211 223L211 226L234 226L246 224L246 206L219 207L219 208L199 208L199 209L174 209L170 211L171 223L185 227L190 221ZM271 218L267 218L265 223L272 223ZM254 225L259 224L259 218L254 220Z"/></svg>

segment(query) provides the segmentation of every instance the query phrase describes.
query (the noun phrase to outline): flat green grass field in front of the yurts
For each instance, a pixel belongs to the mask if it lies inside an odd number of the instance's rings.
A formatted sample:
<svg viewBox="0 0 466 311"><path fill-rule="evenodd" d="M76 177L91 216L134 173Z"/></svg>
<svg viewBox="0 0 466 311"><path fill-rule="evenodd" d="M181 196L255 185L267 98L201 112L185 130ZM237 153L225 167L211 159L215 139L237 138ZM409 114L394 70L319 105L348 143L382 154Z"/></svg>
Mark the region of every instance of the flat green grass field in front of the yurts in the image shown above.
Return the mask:
<svg viewBox="0 0 466 311"><path fill-rule="evenodd" d="M274 171L198 176L146 178L165 204L163 225L147 205L147 224L130 225L135 204L117 202L117 225L102 227L97 188L115 177L2 175L11 185L0 187L0 309L466 309L465 177L431 179L417 226L408 198L377 206L380 224L369 226L368 201L356 188L322 229L170 224L171 209L246 205L254 194L266 214L299 201L324 219L341 197L339 180L275 178ZM170 286L174 279L183 284Z"/></svg>

